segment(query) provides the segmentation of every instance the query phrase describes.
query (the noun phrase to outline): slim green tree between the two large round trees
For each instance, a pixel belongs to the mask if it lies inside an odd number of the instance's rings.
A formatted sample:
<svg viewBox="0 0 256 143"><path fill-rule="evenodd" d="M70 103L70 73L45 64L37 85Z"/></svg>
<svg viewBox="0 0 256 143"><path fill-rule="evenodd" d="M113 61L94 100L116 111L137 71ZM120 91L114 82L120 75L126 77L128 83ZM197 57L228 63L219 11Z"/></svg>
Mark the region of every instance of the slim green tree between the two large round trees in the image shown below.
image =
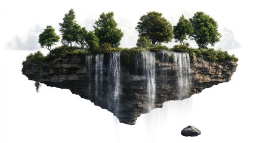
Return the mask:
<svg viewBox="0 0 256 143"><path fill-rule="evenodd" d="M184 45L187 40L187 35L191 35L193 31L192 23L182 14L180 20L178 20L177 26L173 27L175 42L180 42L180 45Z"/></svg>

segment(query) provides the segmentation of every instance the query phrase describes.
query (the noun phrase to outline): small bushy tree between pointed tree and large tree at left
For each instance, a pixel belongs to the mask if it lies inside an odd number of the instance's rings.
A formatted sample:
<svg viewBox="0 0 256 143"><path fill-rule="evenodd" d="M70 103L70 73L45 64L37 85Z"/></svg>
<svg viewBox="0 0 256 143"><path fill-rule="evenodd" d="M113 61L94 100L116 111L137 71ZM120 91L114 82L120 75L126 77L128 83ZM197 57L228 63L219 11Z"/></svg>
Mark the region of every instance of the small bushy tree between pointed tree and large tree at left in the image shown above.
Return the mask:
<svg viewBox="0 0 256 143"><path fill-rule="evenodd" d="M97 38L97 36L95 36L95 34L92 31L87 33L86 42L88 49L90 51L97 51L97 49L99 48L99 39Z"/></svg>

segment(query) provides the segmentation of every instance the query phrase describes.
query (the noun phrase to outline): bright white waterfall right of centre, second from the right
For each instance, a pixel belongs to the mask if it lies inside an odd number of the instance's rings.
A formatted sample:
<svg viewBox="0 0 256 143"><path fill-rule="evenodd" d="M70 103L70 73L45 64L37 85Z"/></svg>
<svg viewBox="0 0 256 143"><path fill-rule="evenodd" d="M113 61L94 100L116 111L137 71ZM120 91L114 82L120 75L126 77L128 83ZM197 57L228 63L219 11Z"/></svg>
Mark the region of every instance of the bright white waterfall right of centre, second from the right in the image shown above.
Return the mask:
<svg viewBox="0 0 256 143"><path fill-rule="evenodd" d="M149 97L148 110L154 108L156 83L155 83L155 52L141 52L143 71L147 79L147 95Z"/></svg>

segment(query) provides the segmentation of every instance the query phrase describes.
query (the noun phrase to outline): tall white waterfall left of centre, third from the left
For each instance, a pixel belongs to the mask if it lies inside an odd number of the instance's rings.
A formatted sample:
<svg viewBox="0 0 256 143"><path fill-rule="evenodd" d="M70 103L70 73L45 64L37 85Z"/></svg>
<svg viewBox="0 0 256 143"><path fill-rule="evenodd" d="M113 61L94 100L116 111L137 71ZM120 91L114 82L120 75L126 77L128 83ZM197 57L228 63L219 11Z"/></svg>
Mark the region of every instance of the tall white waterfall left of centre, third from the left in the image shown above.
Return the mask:
<svg viewBox="0 0 256 143"><path fill-rule="evenodd" d="M113 52L109 59L109 97L113 99L109 100L109 106L113 108L116 115L119 112L119 94L121 92L120 53Z"/></svg>

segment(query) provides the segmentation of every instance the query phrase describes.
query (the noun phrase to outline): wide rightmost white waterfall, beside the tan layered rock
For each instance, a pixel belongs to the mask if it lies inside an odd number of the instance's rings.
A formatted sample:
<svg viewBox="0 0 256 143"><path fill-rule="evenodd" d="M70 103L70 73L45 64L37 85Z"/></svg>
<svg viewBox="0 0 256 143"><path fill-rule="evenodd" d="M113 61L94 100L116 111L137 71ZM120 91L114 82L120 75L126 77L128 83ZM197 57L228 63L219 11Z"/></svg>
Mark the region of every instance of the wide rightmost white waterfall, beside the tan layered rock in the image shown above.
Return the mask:
<svg viewBox="0 0 256 143"><path fill-rule="evenodd" d="M182 100L189 94L191 79L190 79L190 58L189 54L184 52L169 52L162 51L162 63L169 63L171 57L177 71L177 90L179 100Z"/></svg>

